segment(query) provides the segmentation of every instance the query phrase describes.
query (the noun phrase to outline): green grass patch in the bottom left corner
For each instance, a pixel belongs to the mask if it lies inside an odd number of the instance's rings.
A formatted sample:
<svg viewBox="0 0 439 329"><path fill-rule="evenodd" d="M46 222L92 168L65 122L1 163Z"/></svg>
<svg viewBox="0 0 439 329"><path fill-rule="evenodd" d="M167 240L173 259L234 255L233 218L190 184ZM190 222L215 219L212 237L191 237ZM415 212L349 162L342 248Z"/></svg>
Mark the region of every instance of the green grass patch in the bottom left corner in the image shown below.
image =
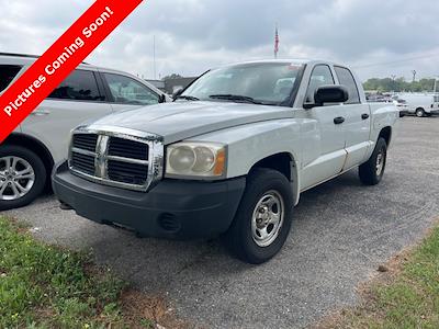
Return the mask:
<svg viewBox="0 0 439 329"><path fill-rule="evenodd" d="M89 254L36 241L0 216L0 328L154 328L160 303L127 293Z"/></svg>

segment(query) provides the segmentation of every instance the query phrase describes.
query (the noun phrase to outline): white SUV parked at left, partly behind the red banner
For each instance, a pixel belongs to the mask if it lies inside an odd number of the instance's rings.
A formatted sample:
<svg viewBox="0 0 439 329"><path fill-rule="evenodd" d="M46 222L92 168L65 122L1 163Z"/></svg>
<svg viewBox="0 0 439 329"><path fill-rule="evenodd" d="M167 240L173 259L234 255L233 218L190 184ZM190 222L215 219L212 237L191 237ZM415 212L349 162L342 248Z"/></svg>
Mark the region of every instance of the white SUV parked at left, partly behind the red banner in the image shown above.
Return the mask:
<svg viewBox="0 0 439 329"><path fill-rule="evenodd" d="M36 58L0 54L0 93ZM53 166L67 158L74 127L113 112L166 100L170 99L132 75L80 65L0 145L0 211L24 206L50 186Z"/></svg>

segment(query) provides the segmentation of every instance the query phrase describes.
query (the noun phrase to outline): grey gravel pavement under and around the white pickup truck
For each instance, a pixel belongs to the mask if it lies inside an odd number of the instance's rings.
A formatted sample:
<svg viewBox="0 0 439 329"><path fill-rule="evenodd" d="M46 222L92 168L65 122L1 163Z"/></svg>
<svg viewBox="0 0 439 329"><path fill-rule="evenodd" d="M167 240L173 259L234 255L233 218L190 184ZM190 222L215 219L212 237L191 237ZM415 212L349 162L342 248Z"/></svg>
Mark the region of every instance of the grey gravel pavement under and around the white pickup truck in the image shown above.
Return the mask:
<svg viewBox="0 0 439 329"><path fill-rule="evenodd" d="M357 302L356 286L421 238L439 214L439 117L402 120L378 186L349 172L302 195L282 252L250 266L217 241L137 239L61 212L53 196L9 215L35 235L92 248L147 293L165 294L178 316L207 328L302 328Z"/></svg>

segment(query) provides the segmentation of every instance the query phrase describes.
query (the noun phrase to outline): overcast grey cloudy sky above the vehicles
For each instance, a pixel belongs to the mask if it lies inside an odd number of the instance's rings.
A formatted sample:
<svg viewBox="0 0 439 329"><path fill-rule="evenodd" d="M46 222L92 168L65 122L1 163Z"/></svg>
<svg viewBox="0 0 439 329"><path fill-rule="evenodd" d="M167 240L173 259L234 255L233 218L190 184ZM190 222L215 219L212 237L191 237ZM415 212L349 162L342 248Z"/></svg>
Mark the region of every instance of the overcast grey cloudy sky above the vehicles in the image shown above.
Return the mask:
<svg viewBox="0 0 439 329"><path fill-rule="evenodd" d="M0 52L43 53L92 3L0 0ZM323 58L365 80L439 76L437 0L147 0L87 59L154 78L273 57Z"/></svg>

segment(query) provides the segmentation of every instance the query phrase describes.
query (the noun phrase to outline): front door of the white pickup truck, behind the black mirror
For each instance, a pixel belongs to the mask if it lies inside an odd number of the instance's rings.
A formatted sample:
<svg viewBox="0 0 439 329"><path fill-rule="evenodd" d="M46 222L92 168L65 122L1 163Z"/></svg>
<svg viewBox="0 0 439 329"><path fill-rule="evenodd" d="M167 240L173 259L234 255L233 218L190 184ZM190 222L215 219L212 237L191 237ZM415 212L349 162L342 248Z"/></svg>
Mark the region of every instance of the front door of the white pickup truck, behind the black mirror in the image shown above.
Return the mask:
<svg viewBox="0 0 439 329"><path fill-rule="evenodd" d="M320 86L335 84L333 71L328 65L314 67L305 103L314 103L314 92ZM317 123L318 135L315 140L304 140L302 190L309 189L322 181L341 172L346 159L345 128L342 122L336 118L345 116L345 109L340 104L326 104L311 110L303 110L306 118ZM337 123L336 123L337 122ZM303 132L306 135L306 132Z"/></svg>

